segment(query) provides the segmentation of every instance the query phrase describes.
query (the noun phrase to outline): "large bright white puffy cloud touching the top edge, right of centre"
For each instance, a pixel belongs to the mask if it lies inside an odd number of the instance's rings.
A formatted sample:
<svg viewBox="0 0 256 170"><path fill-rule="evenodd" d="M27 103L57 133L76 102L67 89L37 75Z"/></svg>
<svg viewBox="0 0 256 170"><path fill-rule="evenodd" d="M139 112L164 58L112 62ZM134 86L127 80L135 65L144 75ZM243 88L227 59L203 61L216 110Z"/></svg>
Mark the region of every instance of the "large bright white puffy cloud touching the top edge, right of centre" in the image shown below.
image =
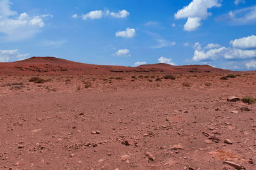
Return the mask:
<svg viewBox="0 0 256 170"><path fill-rule="evenodd" d="M175 13L175 19L188 18L184 25L185 31L195 31L201 25L201 20L205 20L212 13L208 9L220 7L220 0L193 0L188 6L184 6Z"/></svg>

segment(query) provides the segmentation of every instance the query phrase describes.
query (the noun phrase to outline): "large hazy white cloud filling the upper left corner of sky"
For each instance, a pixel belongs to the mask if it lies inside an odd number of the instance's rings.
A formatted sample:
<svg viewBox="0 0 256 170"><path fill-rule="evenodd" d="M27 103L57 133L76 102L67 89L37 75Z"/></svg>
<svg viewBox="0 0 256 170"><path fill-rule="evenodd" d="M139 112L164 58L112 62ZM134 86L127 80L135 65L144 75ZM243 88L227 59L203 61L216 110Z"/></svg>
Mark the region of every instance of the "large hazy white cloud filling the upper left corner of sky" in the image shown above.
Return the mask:
<svg viewBox="0 0 256 170"><path fill-rule="evenodd" d="M10 10L11 4L9 0L0 2L0 32L6 41L31 38L45 26L44 18L52 17L49 14L30 17L26 12L17 15L16 11Z"/></svg>

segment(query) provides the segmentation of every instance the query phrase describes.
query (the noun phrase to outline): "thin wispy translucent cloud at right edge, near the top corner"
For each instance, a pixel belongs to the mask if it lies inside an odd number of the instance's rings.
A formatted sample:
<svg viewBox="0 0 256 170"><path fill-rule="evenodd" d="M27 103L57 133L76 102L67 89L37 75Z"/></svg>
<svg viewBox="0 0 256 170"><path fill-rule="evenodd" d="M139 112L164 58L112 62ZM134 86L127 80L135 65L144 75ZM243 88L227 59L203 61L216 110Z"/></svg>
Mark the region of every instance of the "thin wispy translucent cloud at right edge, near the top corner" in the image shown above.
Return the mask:
<svg viewBox="0 0 256 170"><path fill-rule="evenodd" d="M229 13L216 18L216 20L228 21L235 25L249 25L256 23L256 6L230 11Z"/></svg>

